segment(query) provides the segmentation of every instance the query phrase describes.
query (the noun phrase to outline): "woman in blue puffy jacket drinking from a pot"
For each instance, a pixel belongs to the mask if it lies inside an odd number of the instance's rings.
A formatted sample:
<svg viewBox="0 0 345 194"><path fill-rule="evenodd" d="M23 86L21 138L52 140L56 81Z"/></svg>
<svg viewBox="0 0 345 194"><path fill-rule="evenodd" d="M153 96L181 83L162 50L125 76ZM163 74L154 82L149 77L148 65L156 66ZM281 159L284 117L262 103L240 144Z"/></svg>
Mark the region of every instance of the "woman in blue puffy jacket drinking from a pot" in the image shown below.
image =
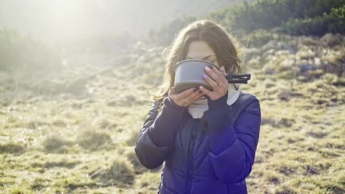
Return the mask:
<svg viewBox="0 0 345 194"><path fill-rule="evenodd" d="M221 74L242 72L236 40L222 26L197 20L168 48L164 82L136 142L139 161L149 169L164 162L161 194L247 193L245 178L254 163L261 112L254 95L228 84ZM175 92L175 65L189 58L220 69L205 69L213 91Z"/></svg>

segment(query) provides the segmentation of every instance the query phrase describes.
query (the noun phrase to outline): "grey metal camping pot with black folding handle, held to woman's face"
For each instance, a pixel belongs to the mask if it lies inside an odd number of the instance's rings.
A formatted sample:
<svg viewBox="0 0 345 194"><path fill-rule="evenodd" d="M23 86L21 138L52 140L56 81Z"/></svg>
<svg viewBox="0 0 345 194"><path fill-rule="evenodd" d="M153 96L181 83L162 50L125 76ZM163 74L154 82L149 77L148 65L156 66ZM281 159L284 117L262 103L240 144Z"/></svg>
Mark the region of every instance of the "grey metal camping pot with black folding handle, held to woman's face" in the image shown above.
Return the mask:
<svg viewBox="0 0 345 194"><path fill-rule="evenodd" d="M209 85L203 78L203 75L206 74L205 67L211 68L218 67L212 62L199 59L187 59L178 62L175 66L175 90L176 93L183 92L190 88L199 88L203 86L210 91L213 91L211 85ZM220 70L219 70L220 71ZM247 84L247 81L250 80L250 74L224 74L228 83L241 83Z"/></svg>

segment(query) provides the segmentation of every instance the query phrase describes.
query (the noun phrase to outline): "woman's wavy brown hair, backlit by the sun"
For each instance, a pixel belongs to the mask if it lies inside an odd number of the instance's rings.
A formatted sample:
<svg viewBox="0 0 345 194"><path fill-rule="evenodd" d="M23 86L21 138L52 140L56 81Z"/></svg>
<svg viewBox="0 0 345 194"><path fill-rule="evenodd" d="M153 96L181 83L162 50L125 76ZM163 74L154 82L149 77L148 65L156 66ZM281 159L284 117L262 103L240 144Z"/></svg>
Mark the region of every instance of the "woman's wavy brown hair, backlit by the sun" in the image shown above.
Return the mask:
<svg viewBox="0 0 345 194"><path fill-rule="evenodd" d="M200 40L205 41L214 50L220 67L224 66L226 73L242 73L243 52L236 38L227 32L225 27L211 20L197 19L182 28L162 52L165 61L163 83L151 96L153 100L159 102L158 112L162 109L162 102L168 95L169 88L174 86L176 63L186 59L188 45L192 41ZM237 85L234 86L236 90L239 89Z"/></svg>

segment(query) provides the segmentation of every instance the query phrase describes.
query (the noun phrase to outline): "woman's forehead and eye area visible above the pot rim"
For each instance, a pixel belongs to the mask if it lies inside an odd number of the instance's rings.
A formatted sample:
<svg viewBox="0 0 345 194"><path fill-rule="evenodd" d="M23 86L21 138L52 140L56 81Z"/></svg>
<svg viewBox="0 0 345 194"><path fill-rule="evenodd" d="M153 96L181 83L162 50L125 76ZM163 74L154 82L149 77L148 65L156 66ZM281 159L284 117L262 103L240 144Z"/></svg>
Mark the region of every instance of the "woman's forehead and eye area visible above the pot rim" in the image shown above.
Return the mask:
<svg viewBox="0 0 345 194"><path fill-rule="evenodd" d="M205 41L193 41L189 44L186 59L201 59L214 63L220 68L213 49Z"/></svg>

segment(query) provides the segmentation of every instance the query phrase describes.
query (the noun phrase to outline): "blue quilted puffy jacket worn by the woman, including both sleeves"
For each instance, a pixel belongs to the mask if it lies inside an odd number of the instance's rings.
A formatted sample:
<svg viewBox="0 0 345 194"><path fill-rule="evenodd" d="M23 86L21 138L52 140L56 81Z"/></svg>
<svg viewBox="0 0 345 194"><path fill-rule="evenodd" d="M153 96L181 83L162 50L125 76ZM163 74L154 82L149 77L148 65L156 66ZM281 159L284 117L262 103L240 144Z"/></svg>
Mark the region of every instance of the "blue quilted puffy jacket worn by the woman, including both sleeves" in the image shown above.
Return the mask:
<svg viewBox="0 0 345 194"><path fill-rule="evenodd" d="M169 96L159 114L158 102L151 105L135 153L146 168L163 164L160 194L248 192L245 178L259 140L259 100L241 91L230 106L227 93L217 100L205 96L209 108L202 118L193 118Z"/></svg>

